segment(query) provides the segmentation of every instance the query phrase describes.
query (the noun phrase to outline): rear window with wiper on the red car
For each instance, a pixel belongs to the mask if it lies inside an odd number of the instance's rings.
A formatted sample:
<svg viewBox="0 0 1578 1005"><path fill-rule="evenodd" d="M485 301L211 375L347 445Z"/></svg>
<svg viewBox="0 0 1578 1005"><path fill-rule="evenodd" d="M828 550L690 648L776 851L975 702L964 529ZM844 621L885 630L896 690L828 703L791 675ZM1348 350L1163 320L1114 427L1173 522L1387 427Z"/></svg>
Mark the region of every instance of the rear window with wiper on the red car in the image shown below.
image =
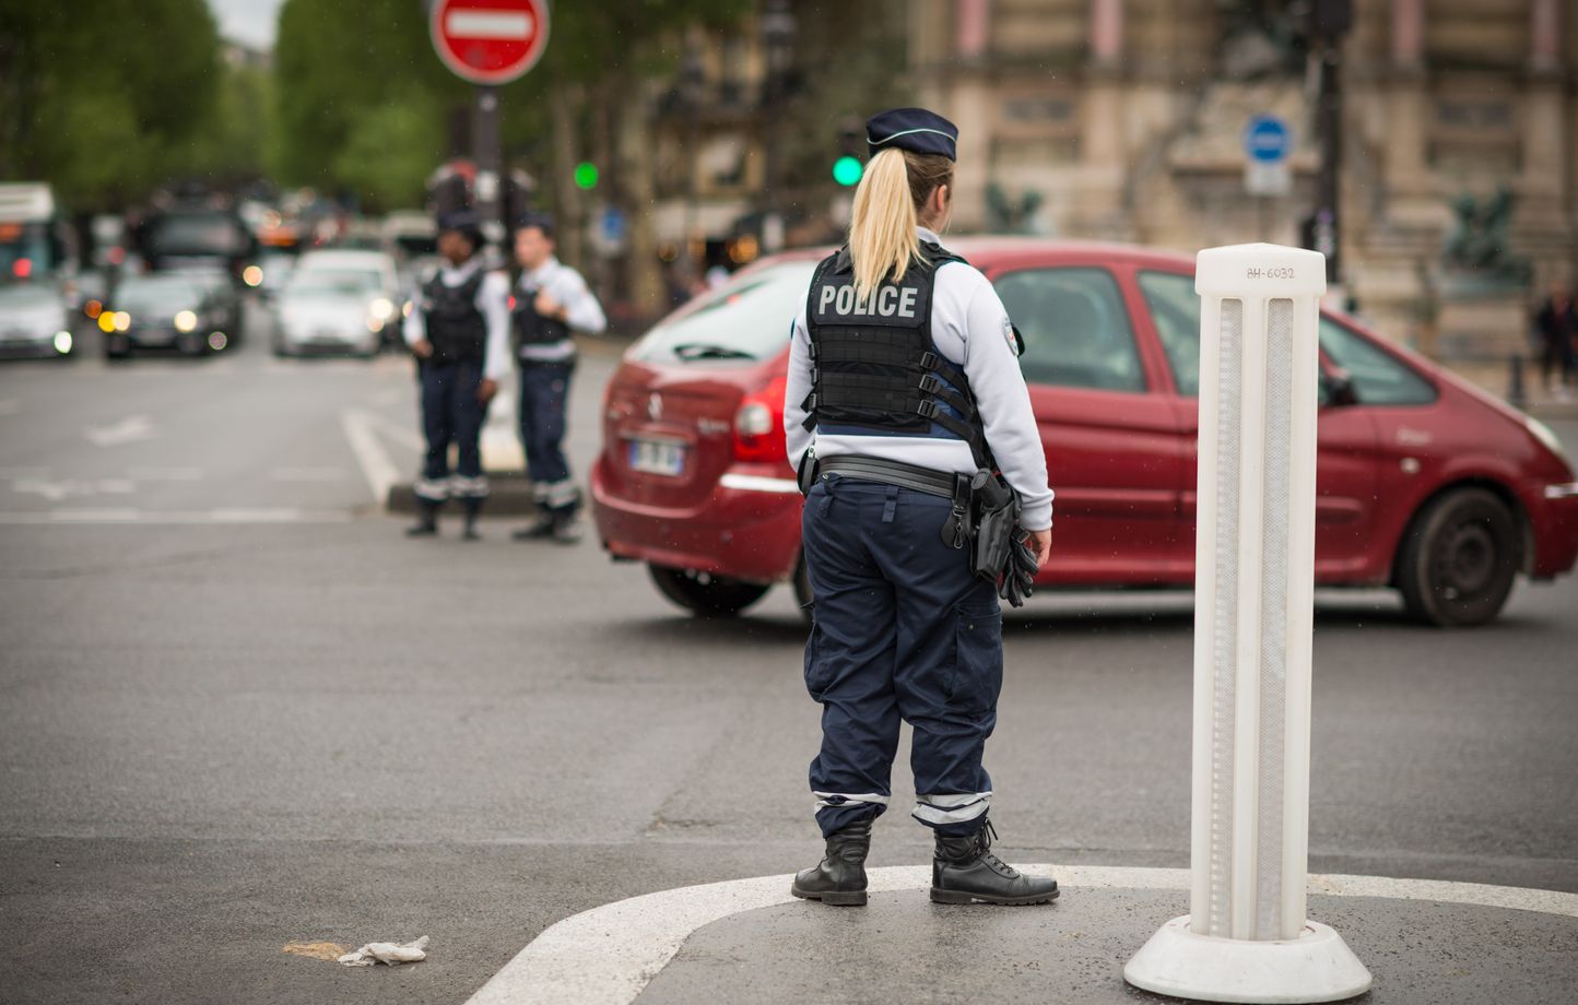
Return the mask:
<svg viewBox="0 0 1578 1005"><path fill-rule="evenodd" d="M642 363L765 360L789 346L789 328L816 262L783 262L702 293L701 304L658 323L636 346Z"/></svg>

